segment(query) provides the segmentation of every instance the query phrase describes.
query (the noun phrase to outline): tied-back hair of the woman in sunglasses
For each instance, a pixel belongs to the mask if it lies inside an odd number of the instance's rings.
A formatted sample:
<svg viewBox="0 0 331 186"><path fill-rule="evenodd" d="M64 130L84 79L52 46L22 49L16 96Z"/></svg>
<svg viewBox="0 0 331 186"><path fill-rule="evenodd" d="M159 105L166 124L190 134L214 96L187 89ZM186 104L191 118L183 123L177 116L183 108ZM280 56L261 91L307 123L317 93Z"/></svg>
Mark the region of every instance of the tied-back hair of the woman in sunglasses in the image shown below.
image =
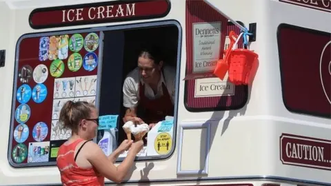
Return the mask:
<svg viewBox="0 0 331 186"><path fill-rule="evenodd" d="M72 132L78 132L79 123L83 119L90 118L93 108L95 109L95 106L86 101L67 101L60 111L60 129L70 129Z"/></svg>

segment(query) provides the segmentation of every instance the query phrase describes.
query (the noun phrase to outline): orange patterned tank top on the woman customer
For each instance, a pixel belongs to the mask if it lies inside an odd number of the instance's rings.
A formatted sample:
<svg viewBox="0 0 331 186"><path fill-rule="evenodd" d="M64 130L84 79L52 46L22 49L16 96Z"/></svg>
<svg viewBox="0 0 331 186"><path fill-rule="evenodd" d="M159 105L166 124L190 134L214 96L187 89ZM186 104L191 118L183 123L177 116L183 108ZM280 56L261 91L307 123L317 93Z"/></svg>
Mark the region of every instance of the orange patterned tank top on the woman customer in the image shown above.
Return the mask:
<svg viewBox="0 0 331 186"><path fill-rule="evenodd" d="M81 141L84 140L78 139L70 145L63 144L59 148L59 152L57 153L57 167L61 174L62 184L66 186L105 185L105 178L101 176L96 169L83 169L76 164L74 149L76 149ZM85 145L85 143L83 143L83 145ZM83 147L83 145L81 147ZM77 154L79 154L79 151L80 149Z"/></svg>

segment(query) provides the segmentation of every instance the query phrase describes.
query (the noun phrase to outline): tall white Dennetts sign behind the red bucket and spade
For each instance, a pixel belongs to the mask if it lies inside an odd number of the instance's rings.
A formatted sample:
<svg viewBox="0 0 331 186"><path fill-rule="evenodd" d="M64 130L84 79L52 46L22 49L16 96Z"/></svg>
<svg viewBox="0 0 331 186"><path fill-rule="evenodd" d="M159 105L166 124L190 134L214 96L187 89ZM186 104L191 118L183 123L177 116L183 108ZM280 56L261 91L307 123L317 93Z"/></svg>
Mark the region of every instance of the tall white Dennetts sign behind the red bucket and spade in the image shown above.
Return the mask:
<svg viewBox="0 0 331 186"><path fill-rule="evenodd" d="M193 23L193 73L216 67L221 48L221 22Z"/></svg>

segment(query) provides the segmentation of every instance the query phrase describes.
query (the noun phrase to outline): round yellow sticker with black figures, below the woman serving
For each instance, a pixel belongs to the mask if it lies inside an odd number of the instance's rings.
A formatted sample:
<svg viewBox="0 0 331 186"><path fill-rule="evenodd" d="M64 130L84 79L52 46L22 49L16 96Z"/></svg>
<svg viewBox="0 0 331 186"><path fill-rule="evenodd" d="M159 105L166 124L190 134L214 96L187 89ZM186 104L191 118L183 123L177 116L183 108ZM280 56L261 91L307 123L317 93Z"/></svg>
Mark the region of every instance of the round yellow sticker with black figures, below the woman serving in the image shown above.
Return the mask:
<svg viewBox="0 0 331 186"><path fill-rule="evenodd" d="M172 147L172 138L170 134L162 132L157 135L154 141L154 148L158 154L168 154Z"/></svg>

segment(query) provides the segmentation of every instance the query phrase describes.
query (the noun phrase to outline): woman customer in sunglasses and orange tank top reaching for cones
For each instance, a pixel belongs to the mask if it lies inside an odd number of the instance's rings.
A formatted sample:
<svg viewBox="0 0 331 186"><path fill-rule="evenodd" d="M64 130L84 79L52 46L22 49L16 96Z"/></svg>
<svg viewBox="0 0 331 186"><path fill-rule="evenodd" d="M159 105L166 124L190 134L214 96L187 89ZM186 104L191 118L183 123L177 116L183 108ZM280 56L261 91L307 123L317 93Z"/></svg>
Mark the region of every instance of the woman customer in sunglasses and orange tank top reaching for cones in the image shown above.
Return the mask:
<svg viewBox="0 0 331 186"><path fill-rule="evenodd" d="M57 155L57 167L63 185L104 185L104 178L121 183L143 147L143 141L123 141L110 156L94 143L99 114L91 103L68 101L63 105L59 124L72 131L71 138L63 143ZM130 149L129 149L130 148ZM119 154L129 149L126 159L116 167Z"/></svg>

